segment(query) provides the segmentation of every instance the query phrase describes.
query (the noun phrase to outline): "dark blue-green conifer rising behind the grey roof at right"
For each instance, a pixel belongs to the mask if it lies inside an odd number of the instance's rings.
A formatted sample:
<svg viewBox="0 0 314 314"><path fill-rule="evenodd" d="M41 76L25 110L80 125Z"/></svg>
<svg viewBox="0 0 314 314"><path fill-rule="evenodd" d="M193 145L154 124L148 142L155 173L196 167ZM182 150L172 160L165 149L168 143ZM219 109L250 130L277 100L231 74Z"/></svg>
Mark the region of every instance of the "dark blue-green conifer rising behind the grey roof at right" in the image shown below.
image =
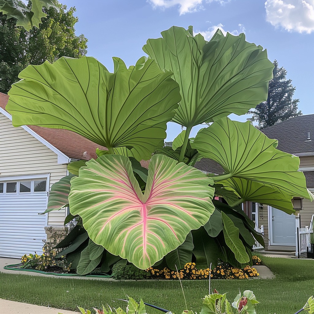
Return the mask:
<svg viewBox="0 0 314 314"><path fill-rule="evenodd" d="M276 123L302 115L298 110L299 99L292 99L295 87L292 86L291 79L286 79L287 71L278 67L278 62L273 62L273 79L269 81L268 97L266 101L258 104L250 121L257 121L258 128L264 129Z"/></svg>

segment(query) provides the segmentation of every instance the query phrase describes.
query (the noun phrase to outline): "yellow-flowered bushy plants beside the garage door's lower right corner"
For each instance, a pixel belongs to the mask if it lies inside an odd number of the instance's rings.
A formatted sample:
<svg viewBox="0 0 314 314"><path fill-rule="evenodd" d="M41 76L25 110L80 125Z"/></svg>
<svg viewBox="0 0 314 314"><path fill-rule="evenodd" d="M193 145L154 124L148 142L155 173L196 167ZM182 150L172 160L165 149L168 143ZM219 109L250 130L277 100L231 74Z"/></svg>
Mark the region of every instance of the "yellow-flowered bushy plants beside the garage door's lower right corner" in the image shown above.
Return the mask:
<svg viewBox="0 0 314 314"><path fill-rule="evenodd" d="M52 228L48 228L49 231ZM62 251L56 249L55 246L60 242L64 235L58 231L51 233L49 241L43 240L44 245L42 248L42 255L35 254L24 254L21 257L21 268L32 268L41 271L49 271L50 268L62 268L62 271L68 273L71 269L71 263L68 263L65 256L58 257L58 254Z"/></svg>

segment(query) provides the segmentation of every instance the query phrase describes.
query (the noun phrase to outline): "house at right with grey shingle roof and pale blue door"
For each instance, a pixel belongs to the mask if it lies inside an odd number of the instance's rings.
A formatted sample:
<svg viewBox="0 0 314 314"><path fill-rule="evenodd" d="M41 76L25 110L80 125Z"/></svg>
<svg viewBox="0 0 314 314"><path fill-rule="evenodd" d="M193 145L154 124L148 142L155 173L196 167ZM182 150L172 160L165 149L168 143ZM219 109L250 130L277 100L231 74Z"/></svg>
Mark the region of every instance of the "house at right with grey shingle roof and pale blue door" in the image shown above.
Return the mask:
<svg viewBox="0 0 314 314"><path fill-rule="evenodd" d="M306 177L307 188L314 192L314 114L291 118L267 127L262 132L269 138L278 139L278 149L300 158L299 171ZM259 226L264 225L268 240L265 241L265 249L295 251L296 227L310 225L314 202L301 198L294 198L293 202L296 215L288 215L267 205L256 206L257 223Z"/></svg>

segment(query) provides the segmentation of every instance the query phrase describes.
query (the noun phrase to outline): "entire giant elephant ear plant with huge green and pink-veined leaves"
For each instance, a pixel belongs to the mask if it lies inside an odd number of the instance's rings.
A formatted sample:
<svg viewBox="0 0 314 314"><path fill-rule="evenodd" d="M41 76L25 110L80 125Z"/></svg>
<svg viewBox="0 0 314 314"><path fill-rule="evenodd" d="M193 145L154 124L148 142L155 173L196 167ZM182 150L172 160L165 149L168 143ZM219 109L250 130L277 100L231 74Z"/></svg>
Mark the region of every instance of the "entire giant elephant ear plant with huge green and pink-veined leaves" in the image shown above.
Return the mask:
<svg viewBox="0 0 314 314"><path fill-rule="evenodd" d="M141 269L182 268L192 259L199 267L218 260L241 267L252 263L255 239L263 243L242 202L293 213L294 196L313 197L298 157L250 122L227 118L266 100L273 73L266 51L219 30L209 42L192 27L162 36L147 41L149 58L135 66L114 57L110 73L92 57L62 57L28 66L9 91L14 126L63 128L108 149L69 164L46 210L69 205L66 222L81 217L83 227L58 245L80 274L127 261ZM163 144L170 121L186 127L172 147ZM205 122L213 123L190 138ZM225 172L193 168L202 157ZM139 161L148 159L147 171Z"/></svg>

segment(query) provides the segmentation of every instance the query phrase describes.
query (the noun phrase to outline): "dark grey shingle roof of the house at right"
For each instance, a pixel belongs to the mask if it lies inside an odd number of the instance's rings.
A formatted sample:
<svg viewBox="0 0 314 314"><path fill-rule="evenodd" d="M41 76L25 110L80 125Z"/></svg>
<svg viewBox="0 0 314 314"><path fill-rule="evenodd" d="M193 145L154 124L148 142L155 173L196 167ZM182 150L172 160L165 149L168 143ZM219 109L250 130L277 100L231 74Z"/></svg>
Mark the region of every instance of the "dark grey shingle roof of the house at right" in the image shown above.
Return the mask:
<svg viewBox="0 0 314 314"><path fill-rule="evenodd" d="M314 155L314 114L297 116L261 130L278 139L278 149L296 155ZM311 141L307 141L310 133Z"/></svg>

